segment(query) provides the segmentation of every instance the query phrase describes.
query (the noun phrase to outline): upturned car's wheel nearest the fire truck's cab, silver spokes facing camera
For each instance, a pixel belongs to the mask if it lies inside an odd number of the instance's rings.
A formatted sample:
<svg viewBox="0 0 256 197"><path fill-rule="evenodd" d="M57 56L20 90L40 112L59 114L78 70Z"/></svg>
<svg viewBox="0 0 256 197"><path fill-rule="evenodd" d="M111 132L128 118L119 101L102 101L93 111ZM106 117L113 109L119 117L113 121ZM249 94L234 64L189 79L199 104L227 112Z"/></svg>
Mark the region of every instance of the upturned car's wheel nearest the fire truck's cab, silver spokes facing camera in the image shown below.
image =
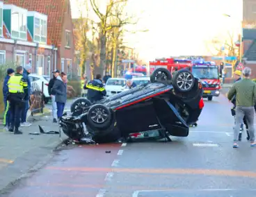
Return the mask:
<svg viewBox="0 0 256 197"><path fill-rule="evenodd" d="M173 76L173 87L178 92L189 92L193 89L195 78L193 74L187 69L177 71Z"/></svg>

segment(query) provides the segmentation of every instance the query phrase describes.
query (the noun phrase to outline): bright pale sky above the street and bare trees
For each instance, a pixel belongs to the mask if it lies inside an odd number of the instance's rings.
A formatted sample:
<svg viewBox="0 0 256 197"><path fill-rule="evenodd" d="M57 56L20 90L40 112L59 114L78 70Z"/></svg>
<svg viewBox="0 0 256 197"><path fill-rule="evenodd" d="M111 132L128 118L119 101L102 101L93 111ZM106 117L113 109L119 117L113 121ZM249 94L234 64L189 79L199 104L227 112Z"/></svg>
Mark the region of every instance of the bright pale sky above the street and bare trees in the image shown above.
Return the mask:
<svg viewBox="0 0 256 197"><path fill-rule="evenodd" d="M86 17L86 8L81 4L86 0L70 1L72 17L79 17L80 10ZM96 1L104 12L107 0ZM88 16L97 19L90 5L89 9ZM242 11L242 0L129 0L128 14L140 20L127 26L138 32L127 33L125 44L145 61L175 55L211 55L207 42L214 37L225 40L228 31L234 35L241 32ZM139 32L145 29L148 31Z"/></svg>

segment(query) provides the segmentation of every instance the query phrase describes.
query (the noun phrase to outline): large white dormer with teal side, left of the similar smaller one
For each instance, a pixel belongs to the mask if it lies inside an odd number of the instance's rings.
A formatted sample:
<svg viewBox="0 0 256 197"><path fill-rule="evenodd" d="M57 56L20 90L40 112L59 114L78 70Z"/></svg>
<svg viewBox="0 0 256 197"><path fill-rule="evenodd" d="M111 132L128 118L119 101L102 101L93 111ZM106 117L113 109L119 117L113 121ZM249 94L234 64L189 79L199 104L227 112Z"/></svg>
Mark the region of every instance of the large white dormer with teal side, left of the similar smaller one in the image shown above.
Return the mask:
<svg viewBox="0 0 256 197"><path fill-rule="evenodd" d="M26 40L27 10L14 5L3 6L3 21L13 39Z"/></svg>

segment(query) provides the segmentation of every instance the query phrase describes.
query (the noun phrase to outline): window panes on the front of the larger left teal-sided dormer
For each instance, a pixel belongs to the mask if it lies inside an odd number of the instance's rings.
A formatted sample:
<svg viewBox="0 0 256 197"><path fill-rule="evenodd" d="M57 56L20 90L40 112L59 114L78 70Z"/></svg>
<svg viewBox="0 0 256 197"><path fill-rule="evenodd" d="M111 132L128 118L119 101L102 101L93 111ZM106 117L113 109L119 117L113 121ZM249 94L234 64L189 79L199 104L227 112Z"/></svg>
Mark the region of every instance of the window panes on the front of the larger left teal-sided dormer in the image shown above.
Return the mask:
<svg viewBox="0 0 256 197"><path fill-rule="evenodd" d="M12 12L12 37L26 40L26 15L20 12Z"/></svg>

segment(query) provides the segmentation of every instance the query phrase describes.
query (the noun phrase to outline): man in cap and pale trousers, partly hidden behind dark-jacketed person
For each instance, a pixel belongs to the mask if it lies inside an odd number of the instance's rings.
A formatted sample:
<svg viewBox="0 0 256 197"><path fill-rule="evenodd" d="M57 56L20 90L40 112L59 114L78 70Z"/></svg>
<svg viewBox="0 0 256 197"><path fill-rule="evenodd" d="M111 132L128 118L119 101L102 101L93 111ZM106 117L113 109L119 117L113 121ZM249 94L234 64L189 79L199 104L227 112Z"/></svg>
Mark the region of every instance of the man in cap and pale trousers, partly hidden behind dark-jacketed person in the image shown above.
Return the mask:
<svg viewBox="0 0 256 197"><path fill-rule="evenodd" d="M48 92L49 92L49 95L51 96L51 103L52 103L51 112L52 112L52 117L54 118L53 122L57 123L57 103L55 101L56 92L52 91L52 87L54 87L54 83L56 81L57 76L60 75L60 71L55 70L52 73L54 74L54 77L51 78L51 80L49 81Z"/></svg>

